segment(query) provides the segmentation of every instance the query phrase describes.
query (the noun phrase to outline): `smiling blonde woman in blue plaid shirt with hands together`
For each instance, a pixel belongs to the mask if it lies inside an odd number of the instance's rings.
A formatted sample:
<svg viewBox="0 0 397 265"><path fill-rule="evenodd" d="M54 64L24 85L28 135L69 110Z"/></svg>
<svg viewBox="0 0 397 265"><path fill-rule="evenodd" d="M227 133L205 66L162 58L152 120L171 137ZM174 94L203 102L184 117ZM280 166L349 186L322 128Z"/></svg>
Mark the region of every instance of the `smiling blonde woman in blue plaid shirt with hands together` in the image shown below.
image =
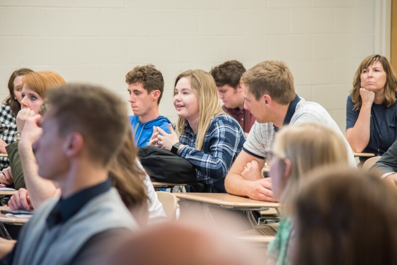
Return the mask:
<svg viewBox="0 0 397 265"><path fill-rule="evenodd" d="M174 88L178 134L172 125L171 133L157 127L150 144L189 160L196 168L197 181L203 184L202 192L225 193L225 176L243 147L245 134L237 121L222 110L215 81L208 72L182 72Z"/></svg>

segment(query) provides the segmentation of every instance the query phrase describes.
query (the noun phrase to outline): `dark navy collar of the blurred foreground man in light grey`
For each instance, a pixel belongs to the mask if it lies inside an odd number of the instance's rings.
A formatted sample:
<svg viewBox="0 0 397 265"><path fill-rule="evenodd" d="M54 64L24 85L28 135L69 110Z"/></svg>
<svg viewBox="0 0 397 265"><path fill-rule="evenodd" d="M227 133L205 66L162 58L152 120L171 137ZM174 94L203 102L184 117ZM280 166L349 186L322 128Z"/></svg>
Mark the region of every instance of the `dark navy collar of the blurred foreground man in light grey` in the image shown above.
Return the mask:
<svg viewBox="0 0 397 265"><path fill-rule="evenodd" d="M47 217L49 228L65 223L76 214L89 200L110 190L112 187L110 179L95 186L84 189L69 198L60 198L53 210Z"/></svg>

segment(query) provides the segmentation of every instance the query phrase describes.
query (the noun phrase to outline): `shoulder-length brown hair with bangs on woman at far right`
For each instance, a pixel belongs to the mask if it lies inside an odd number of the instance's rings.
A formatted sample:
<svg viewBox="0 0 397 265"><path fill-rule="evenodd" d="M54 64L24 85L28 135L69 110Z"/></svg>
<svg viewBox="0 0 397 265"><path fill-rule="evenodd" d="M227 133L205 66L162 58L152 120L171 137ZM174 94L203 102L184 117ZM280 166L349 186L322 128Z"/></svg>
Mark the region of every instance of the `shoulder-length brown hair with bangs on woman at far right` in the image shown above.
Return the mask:
<svg viewBox="0 0 397 265"><path fill-rule="evenodd" d="M361 109L362 99L360 95L360 88L361 88L361 72L363 69L368 68L375 62L380 62L383 66L383 69L386 72L386 84L385 84L385 102L383 104L385 107L389 108L393 106L397 99L396 99L396 92L397 92L397 76L396 73L393 71L392 66L390 65L388 59L384 56L375 54L366 57L358 66L356 72L354 73L353 78L353 88L351 89L351 100L354 103L354 109L359 110Z"/></svg>

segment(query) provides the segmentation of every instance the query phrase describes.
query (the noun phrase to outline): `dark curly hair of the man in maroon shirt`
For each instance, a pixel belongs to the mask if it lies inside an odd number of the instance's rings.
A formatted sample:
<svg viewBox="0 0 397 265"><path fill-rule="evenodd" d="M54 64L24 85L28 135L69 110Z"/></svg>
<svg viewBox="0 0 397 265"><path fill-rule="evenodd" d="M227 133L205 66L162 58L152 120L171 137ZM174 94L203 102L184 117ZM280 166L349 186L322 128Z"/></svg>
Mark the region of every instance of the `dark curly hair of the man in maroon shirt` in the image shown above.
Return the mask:
<svg viewBox="0 0 397 265"><path fill-rule="evenodd" d="M244 72L243 64L236 60L226 61L219 66L212 67L209 71L215 79L216 86L230 85L235 89L239 85Z"/></svg>

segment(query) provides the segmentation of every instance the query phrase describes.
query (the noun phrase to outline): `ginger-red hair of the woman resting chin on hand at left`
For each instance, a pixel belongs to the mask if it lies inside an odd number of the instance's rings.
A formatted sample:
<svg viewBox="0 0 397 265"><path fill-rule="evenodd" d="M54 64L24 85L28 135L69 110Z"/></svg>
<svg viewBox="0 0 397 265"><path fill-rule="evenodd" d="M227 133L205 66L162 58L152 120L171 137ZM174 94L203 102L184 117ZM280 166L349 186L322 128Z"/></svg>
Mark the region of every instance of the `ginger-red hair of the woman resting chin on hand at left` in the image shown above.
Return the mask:
<svg viewBox="0 0 397 265"><path fill-rule="evenodd" d="M46 91L49 88L66 84L65 79L56 72L42 71L29 72L22 77L22 87L26 84L42 99L46 98Z"/></svg>

